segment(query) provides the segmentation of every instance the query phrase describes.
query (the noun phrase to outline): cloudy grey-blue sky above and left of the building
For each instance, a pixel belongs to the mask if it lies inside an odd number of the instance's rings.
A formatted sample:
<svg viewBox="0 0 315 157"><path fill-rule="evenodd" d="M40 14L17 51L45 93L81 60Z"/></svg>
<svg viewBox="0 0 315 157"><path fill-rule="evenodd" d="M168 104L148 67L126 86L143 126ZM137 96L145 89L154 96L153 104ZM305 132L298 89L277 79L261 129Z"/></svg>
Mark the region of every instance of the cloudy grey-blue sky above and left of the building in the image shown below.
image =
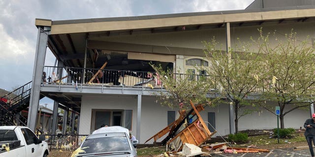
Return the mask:
<svg viewBox="0 0 315 157"><path fill-rule="evenodd" d="M0 0L0 88L32 80L37 38L35 18L56 20L245 9L253 0ZM45 65L55 58L46 53ZM44 99L40 105L52 101Z"/></svg>

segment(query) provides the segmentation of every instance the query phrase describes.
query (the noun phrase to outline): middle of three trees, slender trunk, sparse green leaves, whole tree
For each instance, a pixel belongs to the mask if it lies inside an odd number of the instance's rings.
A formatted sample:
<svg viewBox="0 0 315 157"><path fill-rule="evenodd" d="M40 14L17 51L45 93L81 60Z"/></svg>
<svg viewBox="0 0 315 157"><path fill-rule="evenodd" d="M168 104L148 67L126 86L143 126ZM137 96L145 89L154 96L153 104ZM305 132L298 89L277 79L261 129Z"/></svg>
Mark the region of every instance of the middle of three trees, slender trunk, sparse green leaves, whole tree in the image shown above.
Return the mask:
<svg viewBox="0 0 315 157"><path fill-rule="evenodd" d="M247 96L255 92L258 82L263 75L259 71L259 53L249 52L250 44L239 42L235 50L223 52L217 50L218 42L215 39L210 43L205 43L205 54L211 62L208 73L210 77L206 81L208 86L213 86L221 93L220 100L227 100L234 105L235 131L238 132L238 121L241 117L252 113L253 110L247 108L253 105Z"/></svg>

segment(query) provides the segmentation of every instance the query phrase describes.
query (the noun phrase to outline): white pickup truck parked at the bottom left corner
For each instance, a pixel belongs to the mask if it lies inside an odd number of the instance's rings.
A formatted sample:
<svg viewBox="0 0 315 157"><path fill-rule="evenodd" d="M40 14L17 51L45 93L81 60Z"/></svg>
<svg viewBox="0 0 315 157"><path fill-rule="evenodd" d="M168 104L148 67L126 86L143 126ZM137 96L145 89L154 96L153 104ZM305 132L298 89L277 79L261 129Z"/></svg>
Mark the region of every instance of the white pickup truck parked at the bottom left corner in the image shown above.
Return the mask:
<svg viewBox="0 0 315 157"><path fill-rule="evenodd" d="M47 157L45 135L39 138L28 127L0 126L0 157Z"/></svg>

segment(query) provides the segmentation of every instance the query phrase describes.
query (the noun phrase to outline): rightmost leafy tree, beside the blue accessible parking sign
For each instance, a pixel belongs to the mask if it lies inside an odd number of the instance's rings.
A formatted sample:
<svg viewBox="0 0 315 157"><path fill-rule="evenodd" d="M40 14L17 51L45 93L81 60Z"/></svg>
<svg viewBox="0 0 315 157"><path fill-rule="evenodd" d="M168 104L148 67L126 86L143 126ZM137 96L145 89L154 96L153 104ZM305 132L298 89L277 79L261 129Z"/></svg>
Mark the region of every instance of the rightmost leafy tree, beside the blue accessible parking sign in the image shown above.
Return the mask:
<svg viewBox="0 0 315 157"><path fill-rule="evenodd" d="M284 116L297 108L305 108L313 103L315 85L314 49L308 46L307 40L300 41L297 33L291 32L284 36L273 33L253 40L257 50L263 53L262 63L267 78L263 81L264 92L260 105L273 114L274 105L266 101L276 102L280 107L280 123L284 129ZM281 40L280 38L283 37Z"/></svg>

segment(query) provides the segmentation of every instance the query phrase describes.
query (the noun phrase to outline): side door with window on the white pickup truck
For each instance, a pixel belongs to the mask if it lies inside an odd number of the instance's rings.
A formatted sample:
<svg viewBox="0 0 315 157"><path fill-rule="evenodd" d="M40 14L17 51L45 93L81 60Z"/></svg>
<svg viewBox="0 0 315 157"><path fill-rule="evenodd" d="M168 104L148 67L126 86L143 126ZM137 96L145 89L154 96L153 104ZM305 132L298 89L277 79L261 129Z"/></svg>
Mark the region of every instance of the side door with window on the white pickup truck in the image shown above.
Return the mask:
<svg viewBox="0 0 315 157"><path fill-rule="evenodd" d="M28 128L22 128L22 133L26 141L26 153L31 157L41 157L43 143L39 143L37 136Z"/></svg>

